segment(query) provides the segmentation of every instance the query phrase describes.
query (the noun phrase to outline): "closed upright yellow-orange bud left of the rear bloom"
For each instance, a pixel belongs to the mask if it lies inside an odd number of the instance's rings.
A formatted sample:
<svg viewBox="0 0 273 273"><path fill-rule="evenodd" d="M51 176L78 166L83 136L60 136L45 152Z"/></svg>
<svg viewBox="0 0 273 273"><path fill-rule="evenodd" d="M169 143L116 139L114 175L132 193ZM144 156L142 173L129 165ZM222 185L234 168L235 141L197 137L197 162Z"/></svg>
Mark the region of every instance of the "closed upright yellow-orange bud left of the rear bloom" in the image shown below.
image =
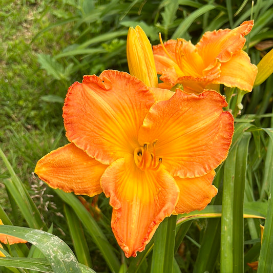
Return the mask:
<svg viewBox="0 0 273 273"><path fill-rule="evenodd" d="M152 46L145 32L136 26L129 28L127 36L127 60L131 75L146 86L158 87L158 79Z"/></svg>

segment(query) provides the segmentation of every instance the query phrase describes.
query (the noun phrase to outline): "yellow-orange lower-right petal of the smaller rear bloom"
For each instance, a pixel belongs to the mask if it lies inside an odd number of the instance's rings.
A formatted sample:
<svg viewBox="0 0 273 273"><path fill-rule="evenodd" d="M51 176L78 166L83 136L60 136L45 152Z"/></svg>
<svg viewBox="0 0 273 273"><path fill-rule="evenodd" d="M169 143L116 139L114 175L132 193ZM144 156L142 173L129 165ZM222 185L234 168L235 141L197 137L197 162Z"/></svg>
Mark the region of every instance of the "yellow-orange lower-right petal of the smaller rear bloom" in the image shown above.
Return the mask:
<svg viewBox="0 0 273 273"><path fill-rule="evenodd" d="M222 83L228 87L238 87L250 92L257 71L257 67L250 63L248 55L241 50L229 61L221 64L221 76L213 80L213 83Z"/></svg>

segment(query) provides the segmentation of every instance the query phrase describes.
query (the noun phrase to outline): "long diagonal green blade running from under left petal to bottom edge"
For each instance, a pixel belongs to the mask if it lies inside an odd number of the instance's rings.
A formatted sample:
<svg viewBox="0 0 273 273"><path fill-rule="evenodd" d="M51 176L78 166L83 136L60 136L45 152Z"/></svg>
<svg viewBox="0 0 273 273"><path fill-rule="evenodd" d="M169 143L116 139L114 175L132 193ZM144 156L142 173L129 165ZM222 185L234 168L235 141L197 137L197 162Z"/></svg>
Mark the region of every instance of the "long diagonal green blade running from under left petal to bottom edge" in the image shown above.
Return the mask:
<svg viewBox="0 0 273 273"><path fill-rule="evenodd" d="M114 254L113 247L108 242L106 236L102 233L98 224L94 218L87 211L85 206L73 195L69 193L62 192L61 190L55 190L58 196L64 200L68 205L70 205L82 224L86 227L88 233L91 235L94 243L97 245L101 254L106 260L109 268L113 272L118 272L120 268L120 263Z"/></svg>

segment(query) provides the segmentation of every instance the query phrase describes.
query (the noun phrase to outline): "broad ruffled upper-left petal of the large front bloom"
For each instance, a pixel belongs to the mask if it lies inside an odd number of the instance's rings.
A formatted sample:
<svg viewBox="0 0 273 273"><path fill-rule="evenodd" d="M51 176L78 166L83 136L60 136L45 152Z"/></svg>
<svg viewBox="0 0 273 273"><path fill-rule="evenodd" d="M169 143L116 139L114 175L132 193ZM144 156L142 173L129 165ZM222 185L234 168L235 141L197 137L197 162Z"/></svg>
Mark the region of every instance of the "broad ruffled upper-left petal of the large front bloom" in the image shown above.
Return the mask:
<svg viewBox="0 0 273 273"><path fill-rule="evenodd" d="M68 139L89 156L110 164L132 153L154 96L144 83L125 72L84 76L68 91L64 123Z"/></svg>

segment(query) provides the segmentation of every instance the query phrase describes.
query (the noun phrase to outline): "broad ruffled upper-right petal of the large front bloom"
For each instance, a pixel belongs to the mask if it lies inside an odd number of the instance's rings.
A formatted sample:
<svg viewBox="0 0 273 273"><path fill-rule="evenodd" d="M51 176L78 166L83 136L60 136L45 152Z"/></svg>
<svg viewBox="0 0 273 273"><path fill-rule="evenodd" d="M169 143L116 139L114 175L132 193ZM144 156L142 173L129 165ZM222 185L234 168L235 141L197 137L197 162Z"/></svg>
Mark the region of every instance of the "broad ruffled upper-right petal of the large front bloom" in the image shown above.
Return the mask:
<svg viewBox="0 0 273 273"><path fill-rule="evenodd" d="M199 95L179 89L153 104L139 131L139 143L155 144L156 156L173 176L191 178L214 170L227 156L234 119L215 91Z"/></svg>

